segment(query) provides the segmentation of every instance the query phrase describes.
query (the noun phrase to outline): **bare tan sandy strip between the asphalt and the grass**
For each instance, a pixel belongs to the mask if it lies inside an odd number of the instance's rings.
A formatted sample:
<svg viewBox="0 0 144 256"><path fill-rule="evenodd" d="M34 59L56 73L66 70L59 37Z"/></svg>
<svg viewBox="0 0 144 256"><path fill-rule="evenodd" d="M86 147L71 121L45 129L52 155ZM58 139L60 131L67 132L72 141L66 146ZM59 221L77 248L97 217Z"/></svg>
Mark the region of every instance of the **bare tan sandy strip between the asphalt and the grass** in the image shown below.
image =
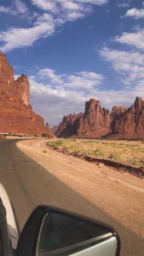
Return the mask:
<svg viewBox="0 0 144 256"><path fill-rule="evenodd" d="M117 172L103 164L96 166L62 155L49 150L44 142L46 140L29 140L17 145L52 175L144 238L143 179Z"/></svg>

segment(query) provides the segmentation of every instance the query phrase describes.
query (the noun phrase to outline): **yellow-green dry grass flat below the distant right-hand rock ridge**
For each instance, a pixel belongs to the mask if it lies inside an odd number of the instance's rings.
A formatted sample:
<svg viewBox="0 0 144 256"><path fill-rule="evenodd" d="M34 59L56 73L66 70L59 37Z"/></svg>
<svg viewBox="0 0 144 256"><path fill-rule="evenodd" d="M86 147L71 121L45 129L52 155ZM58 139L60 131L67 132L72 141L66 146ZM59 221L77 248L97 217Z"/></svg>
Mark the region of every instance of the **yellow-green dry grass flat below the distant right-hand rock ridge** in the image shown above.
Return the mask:
<svg viewBox="0 0 144 256"><path fill-rule="evenodd" d="M48 142L54 150L63 148L68 152L87 156L113 159L144 168L144 144L140 141L107 139L62 139Z"/></svg>

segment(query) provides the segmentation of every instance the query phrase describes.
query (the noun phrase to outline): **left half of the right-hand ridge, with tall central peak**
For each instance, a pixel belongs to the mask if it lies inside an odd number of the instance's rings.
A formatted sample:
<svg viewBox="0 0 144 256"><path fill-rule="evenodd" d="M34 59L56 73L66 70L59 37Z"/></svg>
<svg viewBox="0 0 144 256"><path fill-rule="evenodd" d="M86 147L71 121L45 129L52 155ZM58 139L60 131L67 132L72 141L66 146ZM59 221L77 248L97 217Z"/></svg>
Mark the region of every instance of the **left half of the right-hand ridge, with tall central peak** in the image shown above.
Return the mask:
<svg viewBox="0 0 144 256"><path fill-rule="evenodd" d="M110 114L95 98L86 101L85 112L63 117L56 132L59 137L101 137L110 131Z"/></svg>

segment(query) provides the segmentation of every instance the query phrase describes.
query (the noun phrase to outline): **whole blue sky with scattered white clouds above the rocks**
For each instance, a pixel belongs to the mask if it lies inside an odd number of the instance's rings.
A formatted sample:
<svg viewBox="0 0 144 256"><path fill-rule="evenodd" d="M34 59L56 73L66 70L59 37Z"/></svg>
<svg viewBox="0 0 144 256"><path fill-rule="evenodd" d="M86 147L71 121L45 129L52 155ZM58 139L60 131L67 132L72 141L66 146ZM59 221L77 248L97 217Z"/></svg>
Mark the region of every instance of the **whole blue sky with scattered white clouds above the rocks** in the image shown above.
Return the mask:
<svg viewBox="0 0 144 256"><path fill-rule="evenodd" d="M0 50L51 126L92 97L109 110L144 98L141 0L1 0Z"/></svg>

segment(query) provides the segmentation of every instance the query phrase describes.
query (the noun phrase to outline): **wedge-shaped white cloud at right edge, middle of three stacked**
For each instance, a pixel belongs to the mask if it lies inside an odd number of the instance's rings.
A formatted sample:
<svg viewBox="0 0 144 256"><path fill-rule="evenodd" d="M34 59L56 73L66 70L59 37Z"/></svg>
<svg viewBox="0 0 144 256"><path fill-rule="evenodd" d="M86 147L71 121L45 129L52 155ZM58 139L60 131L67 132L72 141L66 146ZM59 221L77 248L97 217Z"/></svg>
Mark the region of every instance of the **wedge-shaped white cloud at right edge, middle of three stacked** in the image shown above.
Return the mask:
<svg viewBox="0 0 144 256"><path fill-rule="evenodd" d="M130 46L135 46L138 49L144 50L144 29L140 29L135 33L123 32L114 38L115 42L126 43Z"/></svg>

